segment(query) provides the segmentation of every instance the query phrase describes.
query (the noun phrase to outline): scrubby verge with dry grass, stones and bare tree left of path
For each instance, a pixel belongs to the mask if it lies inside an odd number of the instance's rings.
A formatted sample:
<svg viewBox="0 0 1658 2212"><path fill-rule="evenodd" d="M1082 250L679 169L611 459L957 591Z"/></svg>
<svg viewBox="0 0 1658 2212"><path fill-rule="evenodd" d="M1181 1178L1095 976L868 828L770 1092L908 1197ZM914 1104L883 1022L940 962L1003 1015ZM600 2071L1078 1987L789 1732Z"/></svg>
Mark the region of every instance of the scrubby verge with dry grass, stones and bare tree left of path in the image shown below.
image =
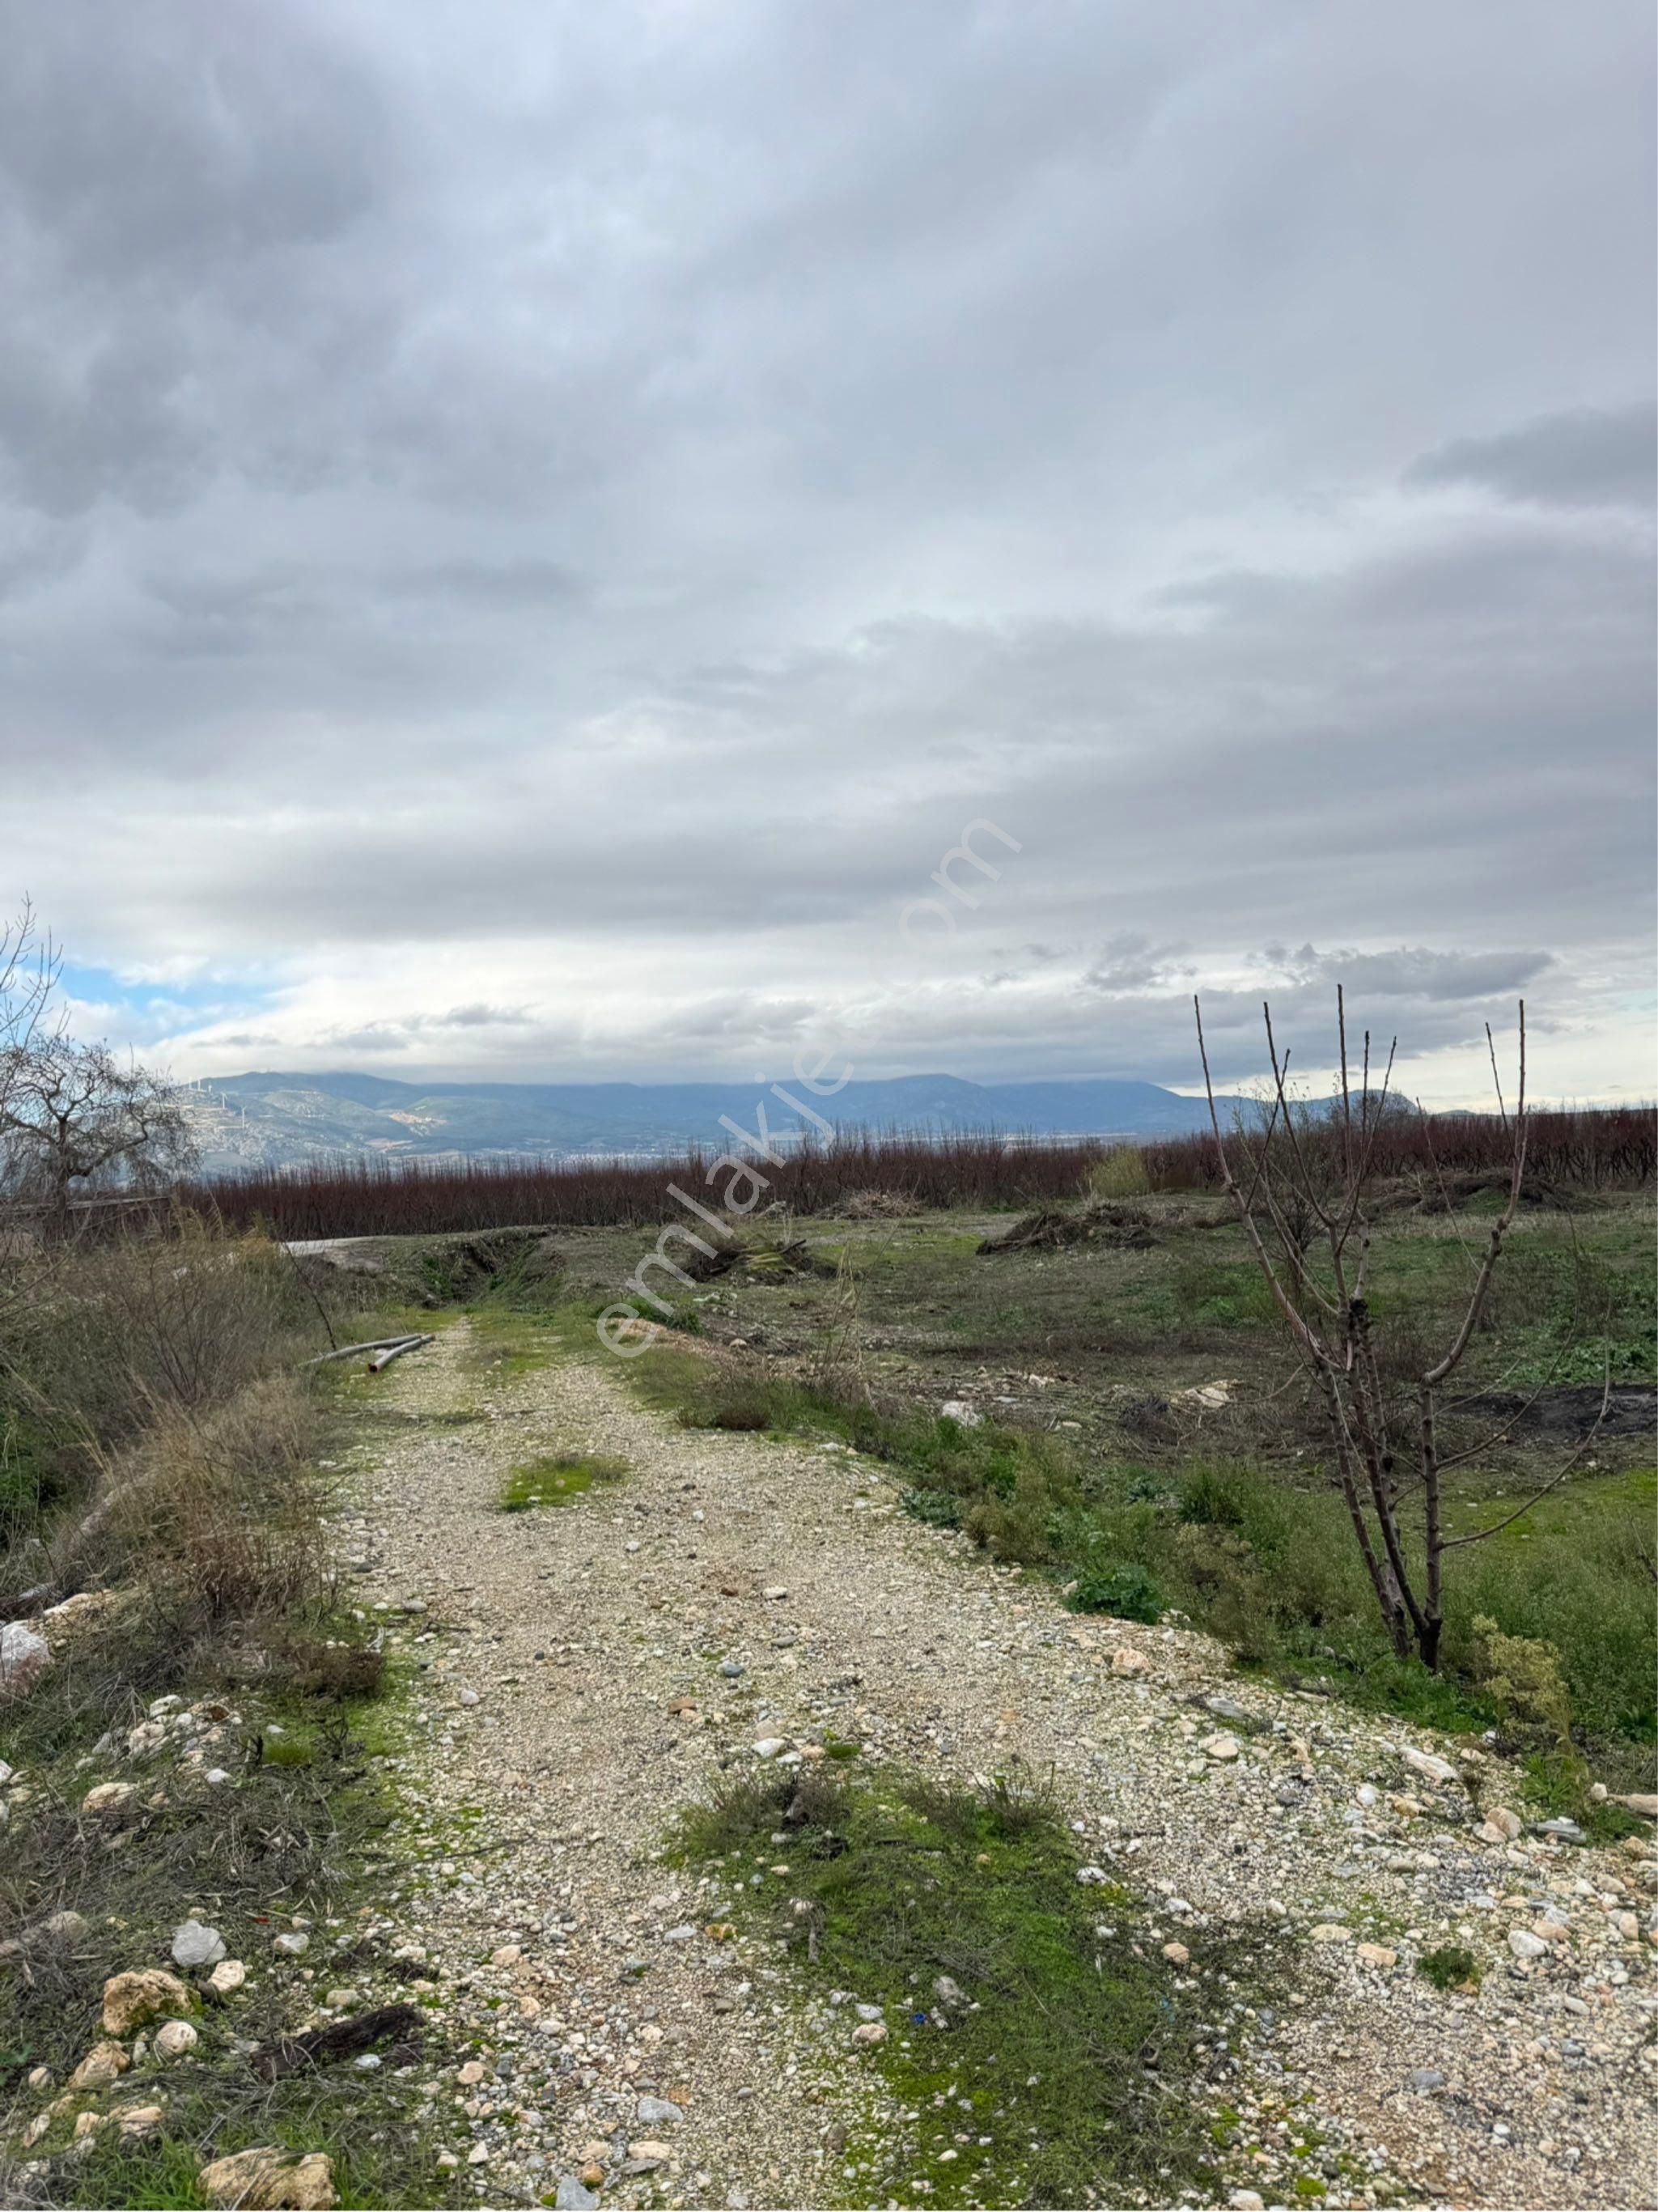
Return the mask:
<svg viewBox="0 0 1658 2212"><path fill-rule="evenodd" d="M307 1365L380 1285L128 1206L175 1159L166 1091L66 1044L49 951L22 956L0 956L0 2199L203 2205L203 2168L259 2148L329 2159L325 2201L442 2201L398 2073L420 2011L301 2033L327 1991L307 1955L343 1984L382 1964L387 1659L327 1551L347 1385ZM122 1975L148 1982L113 1997Z"/></svg>

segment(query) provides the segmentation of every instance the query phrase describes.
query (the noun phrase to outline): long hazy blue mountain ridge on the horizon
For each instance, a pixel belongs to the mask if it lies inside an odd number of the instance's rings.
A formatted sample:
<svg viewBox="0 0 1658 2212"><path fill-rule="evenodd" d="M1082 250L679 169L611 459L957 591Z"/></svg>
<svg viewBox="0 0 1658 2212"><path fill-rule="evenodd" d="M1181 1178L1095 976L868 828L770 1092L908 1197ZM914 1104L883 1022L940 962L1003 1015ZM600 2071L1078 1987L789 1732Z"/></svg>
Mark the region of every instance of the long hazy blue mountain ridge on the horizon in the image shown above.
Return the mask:
<svg viewBox="0 0 1658 2212"><path fill-rule="evenodd" d="M970 1084L959 1075L851 1082L811 1099L836 1128L900 1135L997 1130L1035 1137L1176 1137L1207 1121L1203 1099L1114 1077ZM210 1175L290 1166L338 1152L389 1157L573 1157L725 1146L721 1115L767 1126L787 1144L807 1124L765 1084L405 1084L385 1075L228 1075L188 1091ZM1231 1102L1227 1102L1229 1106Z"/></svg>

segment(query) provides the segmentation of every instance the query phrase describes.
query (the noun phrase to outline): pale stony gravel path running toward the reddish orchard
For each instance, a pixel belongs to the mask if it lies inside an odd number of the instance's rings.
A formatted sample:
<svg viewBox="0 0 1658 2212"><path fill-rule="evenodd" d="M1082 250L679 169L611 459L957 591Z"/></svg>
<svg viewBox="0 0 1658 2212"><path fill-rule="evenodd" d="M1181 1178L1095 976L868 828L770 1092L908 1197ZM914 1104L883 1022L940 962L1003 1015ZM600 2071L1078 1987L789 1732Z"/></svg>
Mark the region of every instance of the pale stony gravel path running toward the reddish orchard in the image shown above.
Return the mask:
<svg viewBox="0 0 1658 2212"><path fill-rule="evenodd" d="M480 2044L482 2079L436 2090L480 2197L564 2181L581 2203L570 2177L597 2185L597 2161L604 2203L858 2199L840 2130L873 2090L844 2031L825 2039L758 1947L707 1940L714 1893L652 1863L721 1761L831 1730L953 1778L1052 1767L1079 1851L1165 1938L1284 1922L1298 1995L1229 2088L1240 2154L1260 2146L1238 2181L1267 2201L1295 2177L1329 2203L1651 2201L1654 1896L1631 1854L1479 1840L1461 1783L1399 1756L1444 1745L1227 1679L1203 1637L1079 1621L913 1524L878 1467L676 1429L599 1354L491 1380L458 1325L380 1387L345 1537L365 1604L429 1608L400 1630L427 1661L405 1765L431 1809L400 1911ZM632 1471L502 1513L508 1467L546 1451ZM1486 1774L1490 1809L1512 1790ZM1510 1929L1539 1922L1565 1933L1517 1958ZM1410 1971L1441 1942L1483 1960L1479 1995Z"/></svg>

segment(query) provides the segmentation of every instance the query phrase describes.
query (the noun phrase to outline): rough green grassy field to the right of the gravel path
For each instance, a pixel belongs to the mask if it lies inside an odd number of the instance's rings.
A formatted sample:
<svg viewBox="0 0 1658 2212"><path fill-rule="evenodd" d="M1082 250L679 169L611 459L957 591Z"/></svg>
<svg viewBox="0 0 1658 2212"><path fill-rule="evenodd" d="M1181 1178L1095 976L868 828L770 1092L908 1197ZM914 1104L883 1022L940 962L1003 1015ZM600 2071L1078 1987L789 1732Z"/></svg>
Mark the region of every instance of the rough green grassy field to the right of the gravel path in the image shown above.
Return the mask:
<svg viewBox="0 0 1658 2212"><path fill-rule="evenodd" d="M1395 1334L1399 1378L1446 1338L1488 1210L1477 1197L1377 1230L1373 1310ZM1245 1668L1503 1730L1563 1805L1587 1805L1589 1772L1612 1790L1651 1787L1649 1199L1521 1214L1446 1422L1448 1447L1470 1451L1450 1478L1452 1531L1501 1520L1561 1464L1607 1367L1612 1416L1563 1489L1452 1555L1439 1674L1395 1659L1382 1635L1320 1409L1216 1201L1147 1197L1085 1243L982 1250L1008 1228L1008 1214L982 1212L756 1223L747 1241L805 1239L811 1265L736 1265L690 1287L681 1334L619 1369L685 1422L829 1433L889 1460L920 1520L1050 1577L1074 1606L1176 1610ZM646 1239L557 1241L559 1325L592 1343L588 1316ZM535 1294L548 1301L550 1285ZM1552 1646L1576 1756L1503 1692L1479 1621Z"/></svg>

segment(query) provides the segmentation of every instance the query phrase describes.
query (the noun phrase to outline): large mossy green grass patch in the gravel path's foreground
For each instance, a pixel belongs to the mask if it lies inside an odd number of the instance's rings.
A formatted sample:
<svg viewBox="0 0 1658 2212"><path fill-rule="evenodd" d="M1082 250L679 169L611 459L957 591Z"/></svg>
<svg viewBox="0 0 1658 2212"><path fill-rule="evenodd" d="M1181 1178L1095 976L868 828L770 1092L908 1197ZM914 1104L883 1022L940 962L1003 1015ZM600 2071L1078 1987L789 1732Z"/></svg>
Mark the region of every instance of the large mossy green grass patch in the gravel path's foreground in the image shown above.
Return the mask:
<svg viewBox="0 0 1658 2212"><path fill-rule="evenodd" d="M1079 1885L1046 1790L765 1772L692 1812L679 1851L718 1876L741 1924L780 1942L829 2048L853 2048L858 2026L829 1991L882 2008L886 2039L862 2064L906 2119L853 2130L825 2177L831 2201L1216 2190L1198 2046L1220 2020L1238 2035L1253 1995L1238 1958L1249 1944L1265 1971L1260 1942L1183 1936L1192 1964L1176 1975L1121 1889ZM940 1995L940 1978L959 1995Z"/></svg>

